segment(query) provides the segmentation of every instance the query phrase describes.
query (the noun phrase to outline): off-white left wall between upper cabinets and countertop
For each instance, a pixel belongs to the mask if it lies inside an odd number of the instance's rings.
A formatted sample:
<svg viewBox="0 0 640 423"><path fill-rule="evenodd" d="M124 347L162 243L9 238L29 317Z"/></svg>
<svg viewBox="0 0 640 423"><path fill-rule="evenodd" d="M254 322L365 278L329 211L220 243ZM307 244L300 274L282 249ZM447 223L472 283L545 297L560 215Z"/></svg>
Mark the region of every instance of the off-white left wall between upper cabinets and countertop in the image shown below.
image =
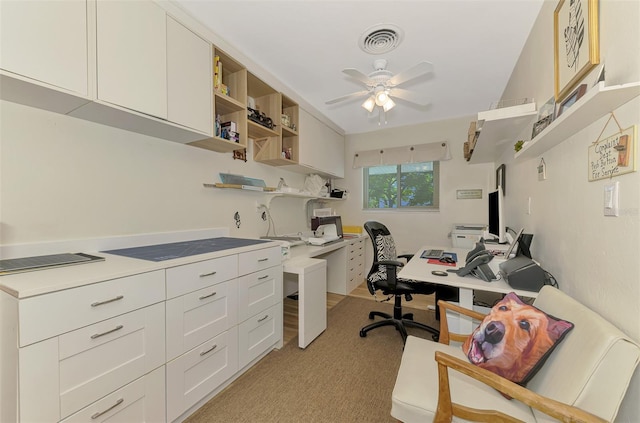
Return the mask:
<svg viewBox="0 0 640 423"><path fill-rule="evenodd" d="M211 227L260 236L267 223L256 202L264 203L264 194L203 183L220 182L219 172L262 178L268 186L281 176L290 186L304 182L304 175L233 160L231 153L15 103L0 102L0 114L0 245ZM276 198L272 209L280 233L307 225L302 200Z"/></svg>

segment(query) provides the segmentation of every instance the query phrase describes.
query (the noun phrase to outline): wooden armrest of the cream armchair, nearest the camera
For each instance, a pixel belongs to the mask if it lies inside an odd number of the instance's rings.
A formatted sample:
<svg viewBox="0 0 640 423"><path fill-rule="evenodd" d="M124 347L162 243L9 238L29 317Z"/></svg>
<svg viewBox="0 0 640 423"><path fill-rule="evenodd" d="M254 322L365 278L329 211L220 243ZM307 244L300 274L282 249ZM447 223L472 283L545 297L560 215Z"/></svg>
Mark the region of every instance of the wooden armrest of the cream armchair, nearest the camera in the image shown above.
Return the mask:
<svg viewBox="0 0 640 423"><path fill-rule="evenodd" d="M458 416L471 421L487 421L490 420L518 422L520 420L508 416L498 410L481 410L477 408L466 407L451 401L451 392L449 389L449 372L451 368L469 377L472 377L492 388L517 399L531 408L542 411L543 413L558 419L560 421L580 421L601 423L606 420L601 419L591 413L581 410L551 398L543 397L537 393L528 390L508 379L498 376L497 374L473 365L467 361L453 357L442 351L436 351L435 360L438 362L438 408L434 422L451 422L453 416Z"/></svg>

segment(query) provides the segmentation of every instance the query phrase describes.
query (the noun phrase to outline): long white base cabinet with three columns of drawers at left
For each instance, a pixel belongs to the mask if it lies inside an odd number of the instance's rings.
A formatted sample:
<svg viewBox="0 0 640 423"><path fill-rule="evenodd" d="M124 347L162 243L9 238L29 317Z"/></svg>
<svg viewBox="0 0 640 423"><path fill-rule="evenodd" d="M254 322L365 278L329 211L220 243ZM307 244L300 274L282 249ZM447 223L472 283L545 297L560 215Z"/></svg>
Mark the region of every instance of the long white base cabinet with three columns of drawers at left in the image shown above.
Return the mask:
<svg viewBox="0 0 640 423"><path fill-rule="evenodd" d="M281 249L260 247L109 280L99 264L30 272L40 295L0 291L0 420L183 420L282 346Z"/></svg>

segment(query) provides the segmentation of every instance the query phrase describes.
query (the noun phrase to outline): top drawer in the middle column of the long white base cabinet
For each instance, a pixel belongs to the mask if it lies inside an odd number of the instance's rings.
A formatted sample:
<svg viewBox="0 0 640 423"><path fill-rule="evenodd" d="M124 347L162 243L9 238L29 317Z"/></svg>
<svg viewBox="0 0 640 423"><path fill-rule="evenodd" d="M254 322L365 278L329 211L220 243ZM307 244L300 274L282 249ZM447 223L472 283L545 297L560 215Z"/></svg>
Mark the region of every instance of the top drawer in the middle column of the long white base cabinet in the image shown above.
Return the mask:
<svg viewBox="0 0 640 423"><path fill-rule="evenodd" d="M167 298L197 291L237 276L237 255L170 267L167 269Z"/></svg>

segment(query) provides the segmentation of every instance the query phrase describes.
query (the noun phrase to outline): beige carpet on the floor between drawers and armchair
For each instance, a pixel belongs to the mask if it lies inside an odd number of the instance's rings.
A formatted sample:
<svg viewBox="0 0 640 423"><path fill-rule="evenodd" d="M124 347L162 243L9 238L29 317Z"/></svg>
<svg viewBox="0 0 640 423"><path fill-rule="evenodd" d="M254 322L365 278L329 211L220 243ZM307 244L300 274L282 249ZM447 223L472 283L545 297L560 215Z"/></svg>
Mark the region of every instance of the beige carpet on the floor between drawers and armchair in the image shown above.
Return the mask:
<svg viewBox="0 0 640 423"><path fill-rule="evenodd" d="M329 311L327 330L306 349L294 340L271 352L187 422L395 422L391 392L402 338L392 326L360 337L374 309L391 313L392 305L346 297ZM433 312L405 311L434 323ZM426 331L409 333L431 339Z"/></svg>

